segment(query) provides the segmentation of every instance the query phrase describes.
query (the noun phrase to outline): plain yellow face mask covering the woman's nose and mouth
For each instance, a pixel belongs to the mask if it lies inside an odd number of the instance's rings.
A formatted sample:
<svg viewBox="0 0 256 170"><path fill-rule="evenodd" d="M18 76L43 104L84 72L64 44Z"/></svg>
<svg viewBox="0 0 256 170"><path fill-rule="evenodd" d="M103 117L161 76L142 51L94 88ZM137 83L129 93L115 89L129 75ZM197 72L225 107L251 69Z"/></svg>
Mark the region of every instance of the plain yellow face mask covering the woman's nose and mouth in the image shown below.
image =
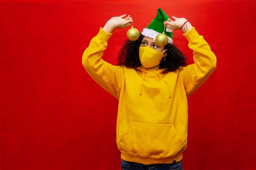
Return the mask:
<svg viewBox="0 0 256 170"><path fill-rule="evenodd" d="M167 49L166 49L167 50ZM155 51L149 46L139 47L139 60L145 68L151 68L160 64L162 58L164 57L164 52L166 51Z"/></svg>

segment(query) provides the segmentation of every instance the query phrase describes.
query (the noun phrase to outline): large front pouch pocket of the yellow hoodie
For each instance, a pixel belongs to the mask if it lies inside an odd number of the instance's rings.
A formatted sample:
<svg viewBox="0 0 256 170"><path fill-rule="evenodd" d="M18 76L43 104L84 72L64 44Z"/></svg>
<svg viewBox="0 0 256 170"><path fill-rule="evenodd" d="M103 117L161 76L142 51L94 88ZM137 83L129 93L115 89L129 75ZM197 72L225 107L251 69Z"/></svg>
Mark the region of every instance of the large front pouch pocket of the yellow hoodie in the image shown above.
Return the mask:
<svg viewBox="0 0 256 170"><path fill-rule="evenodd" d="M185 144L173 124L130 122L118 146L131 155L173 157Z"/></svg>

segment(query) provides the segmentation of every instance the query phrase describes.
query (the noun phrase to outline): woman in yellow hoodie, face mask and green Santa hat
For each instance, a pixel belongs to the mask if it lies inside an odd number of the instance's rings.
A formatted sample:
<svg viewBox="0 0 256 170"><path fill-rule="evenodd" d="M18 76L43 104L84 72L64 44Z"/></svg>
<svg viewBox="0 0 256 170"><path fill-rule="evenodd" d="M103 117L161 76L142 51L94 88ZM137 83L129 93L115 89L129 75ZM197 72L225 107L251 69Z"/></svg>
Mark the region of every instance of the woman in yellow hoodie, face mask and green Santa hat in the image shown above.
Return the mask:
<svg viewBox="0 0 256 170"><path fill-rule="evenodd" d="M216 69L209 45L185 19L169 19L161 9L135 42L126 41L119 66L101 59L108 39L117 28L131 26L128 15L111 18L83 53L90 76L119 100L117 146L122 170L182 170L187 144L187 97ZM167 17L167 18L166 18ZM162 27L161 27L162 26ZM168 44L158 46L164 30ZM194 64L185 66L182 53L172 45L172 30L182 29L193 50ZM150 32L151 31L151 32Z"/></svg>

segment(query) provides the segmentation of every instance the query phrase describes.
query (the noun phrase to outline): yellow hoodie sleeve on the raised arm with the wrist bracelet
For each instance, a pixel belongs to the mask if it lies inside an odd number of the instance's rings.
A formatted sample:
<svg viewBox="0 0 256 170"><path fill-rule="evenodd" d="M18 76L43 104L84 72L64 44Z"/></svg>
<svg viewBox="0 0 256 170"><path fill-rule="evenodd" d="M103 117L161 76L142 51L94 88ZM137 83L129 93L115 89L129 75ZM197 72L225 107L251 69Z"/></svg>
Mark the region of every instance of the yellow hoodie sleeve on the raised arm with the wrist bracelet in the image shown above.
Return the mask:
<svg viewBox="0 0 256 170"><path fill-rule="evenodd" d="M215 71L216 56L194 27L183 35L189 41L189 48L193 50L194 60L194 64L183 67L179 74L180 82L185 87L186 95L189 96Z"/></svg>

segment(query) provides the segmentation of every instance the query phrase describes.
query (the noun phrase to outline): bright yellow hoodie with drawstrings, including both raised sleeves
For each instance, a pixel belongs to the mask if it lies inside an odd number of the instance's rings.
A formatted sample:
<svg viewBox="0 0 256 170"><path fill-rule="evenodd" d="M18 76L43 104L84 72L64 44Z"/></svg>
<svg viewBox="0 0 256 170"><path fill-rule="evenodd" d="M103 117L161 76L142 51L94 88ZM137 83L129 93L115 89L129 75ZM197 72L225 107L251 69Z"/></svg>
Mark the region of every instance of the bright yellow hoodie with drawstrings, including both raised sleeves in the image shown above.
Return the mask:
<svg viewBox="0 0 256 170"><path fill-rule="evenodd" d="M216 56L193 27L184 36L194 64L168 73L113 66L101 59L111 35L100 29L84 51L82 64L119 100L116 141L121 158L143 164L180 161L187 145L187 97L216 69Z"/></svg>

